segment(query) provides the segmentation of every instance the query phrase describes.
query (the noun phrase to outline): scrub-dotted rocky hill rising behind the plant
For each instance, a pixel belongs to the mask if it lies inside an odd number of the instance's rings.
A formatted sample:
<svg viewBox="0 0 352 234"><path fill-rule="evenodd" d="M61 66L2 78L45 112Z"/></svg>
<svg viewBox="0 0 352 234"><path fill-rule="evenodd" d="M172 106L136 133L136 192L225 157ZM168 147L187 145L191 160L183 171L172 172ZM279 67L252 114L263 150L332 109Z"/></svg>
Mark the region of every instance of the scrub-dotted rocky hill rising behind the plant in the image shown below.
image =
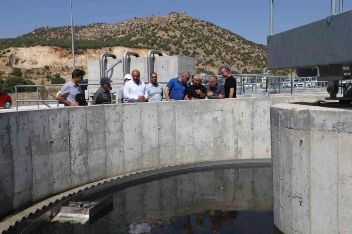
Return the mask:
<svg viewBox="0 0 352 234"><path fill-rule="evenodd" d="M207 62L207 70L218 72L219 66L232 64L232 70L265 68L267 48L222 29L212 23L171 13L168 16L134 17L121 23L96 23L75 26L76 54L86 49L102 47L131 47L159 49L168 55L191 56L201 71ZM42 27L15 39L0 39L2 52L8 47L54 46L71 47L70 26Z"/></svg>

